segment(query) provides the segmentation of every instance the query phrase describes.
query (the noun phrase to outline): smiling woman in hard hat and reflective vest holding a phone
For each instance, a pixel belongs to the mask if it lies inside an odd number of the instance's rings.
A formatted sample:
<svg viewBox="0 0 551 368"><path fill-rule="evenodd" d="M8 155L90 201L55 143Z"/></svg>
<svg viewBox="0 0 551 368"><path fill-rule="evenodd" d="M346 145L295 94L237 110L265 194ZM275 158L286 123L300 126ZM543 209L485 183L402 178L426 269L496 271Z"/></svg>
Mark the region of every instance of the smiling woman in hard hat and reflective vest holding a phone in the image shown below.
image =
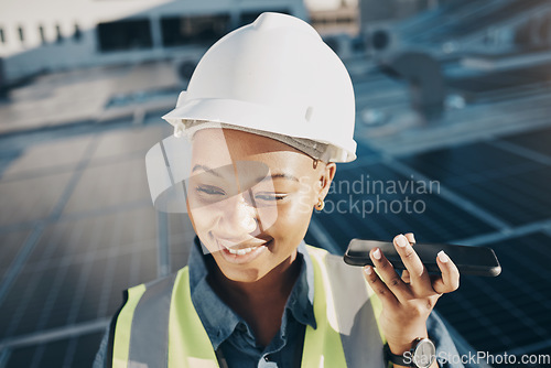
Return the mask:
<svg viewBox="0 0 551 368"><path fill-rule="evenodd" d="M197 238L188 267L128 291L98 367L437 367L432 344L457 354L431 313L458 286L446 255L431 279L413 234L398 235L400 278L379 249L378 272L361 272L303 242L335 162L356 158L349 76L307 23L263 13L226 35L163 118L175 134L148 153L152 197L187 212Z"/></svg>

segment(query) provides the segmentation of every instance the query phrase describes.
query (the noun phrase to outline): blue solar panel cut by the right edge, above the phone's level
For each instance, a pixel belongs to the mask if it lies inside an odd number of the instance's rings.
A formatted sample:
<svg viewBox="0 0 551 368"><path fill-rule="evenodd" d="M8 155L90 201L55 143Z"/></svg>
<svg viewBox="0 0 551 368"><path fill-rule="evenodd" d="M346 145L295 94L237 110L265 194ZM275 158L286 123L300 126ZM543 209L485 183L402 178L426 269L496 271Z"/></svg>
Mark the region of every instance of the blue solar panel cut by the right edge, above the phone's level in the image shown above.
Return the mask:
<svg viewBox="0 0 551 368"><path fill-rule="evenodd" d="M548 166L487 143L406 158L414 170L510 225L551 218Z"/></svg>

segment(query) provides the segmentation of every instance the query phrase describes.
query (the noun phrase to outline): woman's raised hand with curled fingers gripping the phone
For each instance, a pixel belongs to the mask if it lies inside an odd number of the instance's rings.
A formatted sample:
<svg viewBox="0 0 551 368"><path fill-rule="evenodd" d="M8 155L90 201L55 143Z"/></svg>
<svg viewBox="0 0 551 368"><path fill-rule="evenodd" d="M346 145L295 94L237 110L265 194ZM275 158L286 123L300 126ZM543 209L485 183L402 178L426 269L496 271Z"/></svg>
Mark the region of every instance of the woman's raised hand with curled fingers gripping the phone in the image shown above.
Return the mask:
<svg viewBox="0 0 551 368"><path fill-rule="evenodd" d="M390 350L401 355L411 348L415 338L428 337L426 318L442 294L460 286L460 271L442 251L436 259L442 274L429 275L413 250L415 239L411 232L395 237L393 243L407 269L402 277L379 248L370 252L379 274L366 266L365 277L381 300L380 324Z"/></svg>

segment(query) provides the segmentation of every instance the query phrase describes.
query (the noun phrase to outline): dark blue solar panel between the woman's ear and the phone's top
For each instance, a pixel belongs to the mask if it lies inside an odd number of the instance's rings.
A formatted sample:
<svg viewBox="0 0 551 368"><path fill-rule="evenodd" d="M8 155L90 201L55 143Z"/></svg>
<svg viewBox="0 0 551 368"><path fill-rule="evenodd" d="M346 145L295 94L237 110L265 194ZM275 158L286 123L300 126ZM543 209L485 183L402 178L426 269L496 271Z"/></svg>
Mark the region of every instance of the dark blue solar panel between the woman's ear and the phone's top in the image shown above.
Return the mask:
<svg viewBox="0 0 551 368"><path fill-rule="evenodd" d="M432 190L426 185L426 194L418 194L422 187L417 183L415 176L398 174L382 163L341 173L337 169L335 190L329 190L325 209L314 219L327 229L343 252L354 237L390 240L413 231L418 241L439 242L495 230L442 198L437 183ZM306 240L316 243L312 234Z"/></svg>

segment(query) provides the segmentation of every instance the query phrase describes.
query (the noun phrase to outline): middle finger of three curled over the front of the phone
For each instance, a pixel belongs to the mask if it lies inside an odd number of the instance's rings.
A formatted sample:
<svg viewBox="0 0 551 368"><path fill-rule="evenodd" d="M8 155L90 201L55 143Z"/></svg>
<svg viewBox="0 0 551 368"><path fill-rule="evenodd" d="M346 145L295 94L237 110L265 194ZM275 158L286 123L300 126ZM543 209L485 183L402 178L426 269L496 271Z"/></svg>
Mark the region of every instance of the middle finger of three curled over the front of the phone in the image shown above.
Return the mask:
<svg viewBox="0 0 551 368"><path fill-rule="evenodd" d="M421 259L413 250L413 247L403 235L396 236L393 239L395 248L400 256L403 266L409 271L410 282L418 293L426 293L432 291L431 279L429 272L421 262Z"/></svg>

